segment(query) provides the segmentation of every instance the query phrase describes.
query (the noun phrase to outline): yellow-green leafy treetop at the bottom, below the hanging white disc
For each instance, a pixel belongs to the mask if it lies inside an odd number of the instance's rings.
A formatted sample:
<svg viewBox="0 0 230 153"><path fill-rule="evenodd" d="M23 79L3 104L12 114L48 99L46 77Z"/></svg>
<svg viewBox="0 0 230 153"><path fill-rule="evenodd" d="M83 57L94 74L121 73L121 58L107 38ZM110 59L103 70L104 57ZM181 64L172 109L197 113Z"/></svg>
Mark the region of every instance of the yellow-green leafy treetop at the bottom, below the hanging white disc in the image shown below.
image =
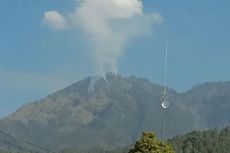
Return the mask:
<svg viewBox="0 0 230 153"><path fill-rule="evenodd" d="M153 133L144 132L128 153L174 153L174 151L169 144L158 141Z"/></svg>

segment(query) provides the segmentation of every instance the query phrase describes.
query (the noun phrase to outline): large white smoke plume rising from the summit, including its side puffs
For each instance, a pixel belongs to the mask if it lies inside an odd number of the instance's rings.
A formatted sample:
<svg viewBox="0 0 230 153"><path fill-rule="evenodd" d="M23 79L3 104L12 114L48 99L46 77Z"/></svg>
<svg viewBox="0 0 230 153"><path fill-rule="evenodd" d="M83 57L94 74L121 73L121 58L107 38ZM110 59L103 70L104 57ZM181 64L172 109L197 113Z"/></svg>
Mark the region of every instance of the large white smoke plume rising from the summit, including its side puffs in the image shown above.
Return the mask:
<svg viewBox="0 0 230 153"><path fill-rule="evenodd" d="M144 13L141 0L77 0L75 11L66 18L57 11L44 14L49 27L62 30L68 25L85 32L96 75L116 73L125 44L161 21L157 13Z"/></svg>

